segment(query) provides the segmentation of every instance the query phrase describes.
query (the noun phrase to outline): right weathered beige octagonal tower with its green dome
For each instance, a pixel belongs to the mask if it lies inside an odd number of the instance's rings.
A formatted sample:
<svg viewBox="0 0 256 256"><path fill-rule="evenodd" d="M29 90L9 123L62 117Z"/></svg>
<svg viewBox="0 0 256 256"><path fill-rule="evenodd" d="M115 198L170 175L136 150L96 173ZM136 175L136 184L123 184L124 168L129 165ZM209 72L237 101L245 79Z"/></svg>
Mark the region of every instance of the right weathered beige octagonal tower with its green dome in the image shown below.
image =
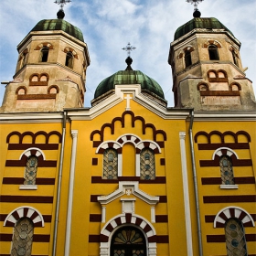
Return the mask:
<svg viewBox="0 0 256 256"><path fill-rule="evenodd" d="M217 18L194 18L176 29L168 62L176 107L252 110L255 98L240 59L240 41Z"/></svg>

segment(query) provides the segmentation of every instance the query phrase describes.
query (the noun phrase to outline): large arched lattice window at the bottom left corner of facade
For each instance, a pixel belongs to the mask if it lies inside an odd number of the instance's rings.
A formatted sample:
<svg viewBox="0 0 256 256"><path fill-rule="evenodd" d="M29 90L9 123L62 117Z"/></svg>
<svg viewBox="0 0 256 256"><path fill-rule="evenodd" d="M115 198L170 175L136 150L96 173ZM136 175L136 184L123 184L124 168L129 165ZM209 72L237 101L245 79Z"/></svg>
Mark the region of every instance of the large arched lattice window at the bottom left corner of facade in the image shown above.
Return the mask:
<svg viewBox="0 0 256 256"><path fill-rule="evenodd" d="M14 227L11 256L30 256L34 234L33 222L28 218L19 219Z"/></svg>

